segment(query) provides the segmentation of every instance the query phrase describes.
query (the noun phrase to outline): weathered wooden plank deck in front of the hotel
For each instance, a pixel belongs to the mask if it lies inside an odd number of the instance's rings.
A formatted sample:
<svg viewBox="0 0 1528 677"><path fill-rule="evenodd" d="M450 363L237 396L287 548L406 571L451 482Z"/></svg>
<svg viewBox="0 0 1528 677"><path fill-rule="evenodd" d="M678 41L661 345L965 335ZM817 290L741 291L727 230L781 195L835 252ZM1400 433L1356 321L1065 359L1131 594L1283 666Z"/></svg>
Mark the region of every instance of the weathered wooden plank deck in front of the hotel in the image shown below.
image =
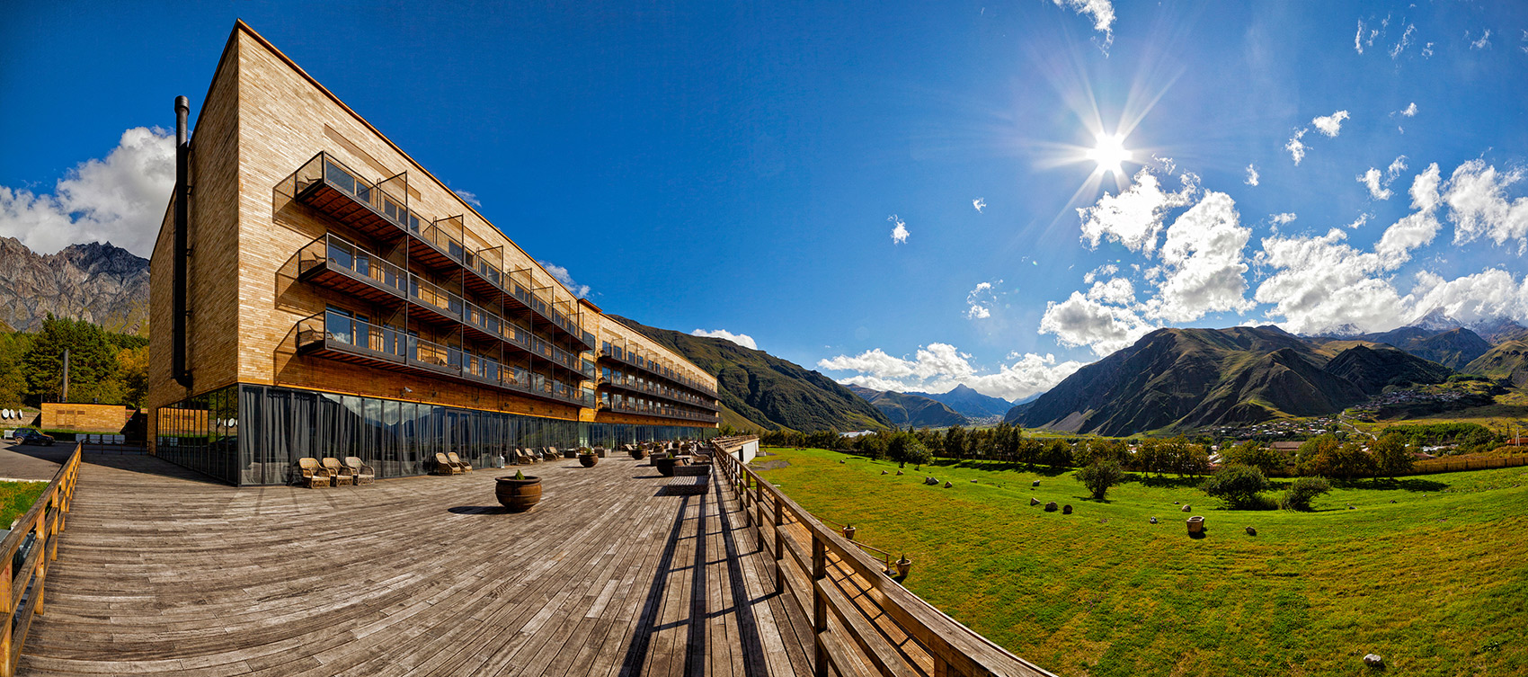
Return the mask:
<svg viewBox="0 0 1528 677"><path fill-rule="evenodd" d="M21 674L810 674L810 620L726 481L630 458L234 489L87 455ZM510 469L510 472L513 472Z"/></svg>

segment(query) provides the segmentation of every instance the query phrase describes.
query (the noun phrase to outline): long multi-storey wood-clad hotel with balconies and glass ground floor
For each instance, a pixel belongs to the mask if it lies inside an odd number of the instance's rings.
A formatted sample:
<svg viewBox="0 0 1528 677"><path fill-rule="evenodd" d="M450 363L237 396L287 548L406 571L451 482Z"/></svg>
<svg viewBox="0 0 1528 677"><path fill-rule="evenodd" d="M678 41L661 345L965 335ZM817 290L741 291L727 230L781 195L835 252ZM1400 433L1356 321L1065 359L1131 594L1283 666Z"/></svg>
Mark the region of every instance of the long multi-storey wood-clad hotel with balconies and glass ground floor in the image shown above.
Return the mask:
<svg viewBox="0 0 1528 677"><path fill-rule="evenodd" d="M150 283L153 454L280 484L301 457L405 477L448 451L715 434L714 376L573 295L244 23L194 136L186 112Z"/></svg>

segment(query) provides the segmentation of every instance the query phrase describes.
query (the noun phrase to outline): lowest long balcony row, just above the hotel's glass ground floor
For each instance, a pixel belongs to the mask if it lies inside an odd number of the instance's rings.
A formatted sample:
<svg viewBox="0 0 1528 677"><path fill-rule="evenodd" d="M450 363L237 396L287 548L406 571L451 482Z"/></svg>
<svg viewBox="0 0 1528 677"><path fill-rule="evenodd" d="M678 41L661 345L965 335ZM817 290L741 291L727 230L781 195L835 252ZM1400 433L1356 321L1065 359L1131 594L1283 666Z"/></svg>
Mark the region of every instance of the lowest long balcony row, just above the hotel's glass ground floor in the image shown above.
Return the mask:
<svg viewBox="0 0 1528 677"><path fill-rule="evenodd" d="M564 384L455 345L426 341L396 327L365 322L333 310L298 322L296 350L298 355L313 355L393 371L425 373L594 408L594 394L576 384Z"/></svg>

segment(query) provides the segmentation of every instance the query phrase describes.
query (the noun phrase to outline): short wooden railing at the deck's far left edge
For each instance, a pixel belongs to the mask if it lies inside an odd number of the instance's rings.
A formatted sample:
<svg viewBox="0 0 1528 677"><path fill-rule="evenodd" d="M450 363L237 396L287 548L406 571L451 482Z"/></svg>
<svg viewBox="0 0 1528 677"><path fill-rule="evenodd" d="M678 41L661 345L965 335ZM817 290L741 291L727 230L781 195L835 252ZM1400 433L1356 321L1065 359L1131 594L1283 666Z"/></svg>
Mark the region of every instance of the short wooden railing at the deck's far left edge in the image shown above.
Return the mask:
<svg viewBox="0 0 1528 677"><path fill-rule="evenodd" d="M43 489L26 517L17 520L15 529L0 541L0 677L14 677L15 663L26 643L26 631L32 627L32 614L43 613L43 584L47 581L47 562L58 558L58 533L64 530L64 518L75 497L75 480L79 477L79 445L69 454L53 481ZM31 538L31 544L28 539ZM28 546L17 570L17 552Z"/></svg>

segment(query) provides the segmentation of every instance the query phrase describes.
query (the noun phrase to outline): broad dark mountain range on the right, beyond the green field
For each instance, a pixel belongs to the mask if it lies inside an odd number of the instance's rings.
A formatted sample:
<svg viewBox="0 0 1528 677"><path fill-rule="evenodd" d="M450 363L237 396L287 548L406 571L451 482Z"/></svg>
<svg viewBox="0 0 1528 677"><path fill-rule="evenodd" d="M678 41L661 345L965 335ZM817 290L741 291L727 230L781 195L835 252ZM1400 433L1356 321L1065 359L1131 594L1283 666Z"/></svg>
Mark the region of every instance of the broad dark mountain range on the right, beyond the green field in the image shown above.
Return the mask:
<svg viewBox="0 0 1528 677"><path fill-rule="evenodd" d="M1496 338L1525 332L1510 321L1490 324ZM1335 414L1389 387L1441 384L1456 371L1522 387L1528 344L1491 345L1458 324L1345 338L1302 338L1273 326L1160 329L1004 419L1106 436L1256 423Z"/></svg>

